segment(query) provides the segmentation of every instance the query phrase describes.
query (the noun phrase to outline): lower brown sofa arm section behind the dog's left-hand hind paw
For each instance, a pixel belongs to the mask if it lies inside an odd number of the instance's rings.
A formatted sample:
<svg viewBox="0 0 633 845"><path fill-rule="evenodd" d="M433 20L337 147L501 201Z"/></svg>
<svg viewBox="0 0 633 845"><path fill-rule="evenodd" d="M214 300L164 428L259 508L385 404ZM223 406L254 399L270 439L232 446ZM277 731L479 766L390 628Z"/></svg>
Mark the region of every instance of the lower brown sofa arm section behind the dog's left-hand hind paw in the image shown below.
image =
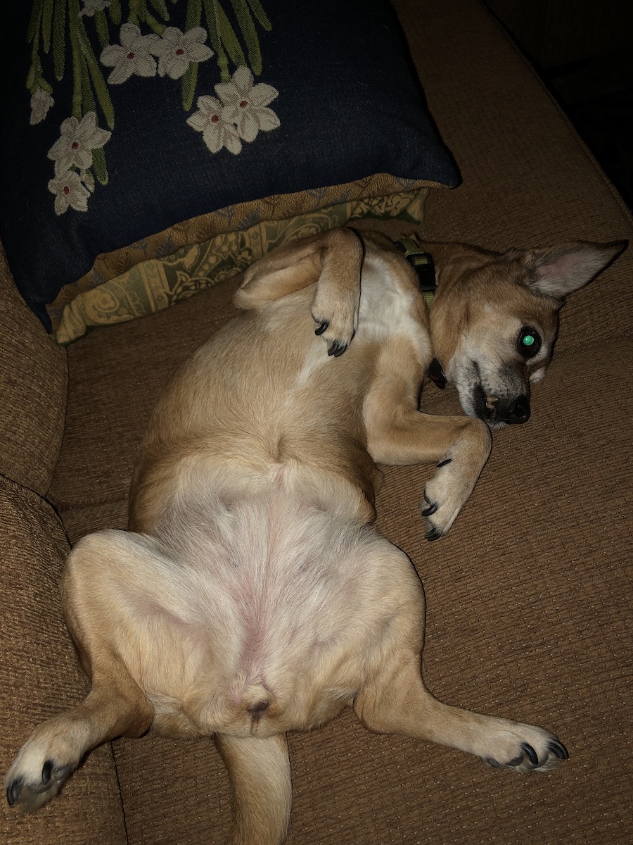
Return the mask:
<svg viewBox="0 0 633 845"><path fill-rule="evenodd" d="M0 767L3 775L35 725L86 692L62 621L58 583L68 540L49 504L0 476ZM8 552L10 550L10 559ZM124 845L121 797L110 746L90 755L63 802L18 815L3 801L0 841Z"/></svg>

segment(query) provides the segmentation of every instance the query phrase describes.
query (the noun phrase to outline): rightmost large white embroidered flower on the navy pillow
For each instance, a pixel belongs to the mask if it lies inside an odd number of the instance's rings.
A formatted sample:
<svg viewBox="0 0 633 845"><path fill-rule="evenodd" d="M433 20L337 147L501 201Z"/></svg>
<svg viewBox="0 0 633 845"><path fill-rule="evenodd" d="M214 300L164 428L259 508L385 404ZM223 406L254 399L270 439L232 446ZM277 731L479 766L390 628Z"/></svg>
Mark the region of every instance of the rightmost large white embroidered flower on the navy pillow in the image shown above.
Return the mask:
<svg viewBox="0 0 633 845"><path fill-rule="evenodd" d="M253 85L248 68L237 68L230 82L215 85L215 93L226 106L225 120L235 123L241 139L254 141L258 132L279 126L279 117L266 107L279 91L271 85Z"/></svg>

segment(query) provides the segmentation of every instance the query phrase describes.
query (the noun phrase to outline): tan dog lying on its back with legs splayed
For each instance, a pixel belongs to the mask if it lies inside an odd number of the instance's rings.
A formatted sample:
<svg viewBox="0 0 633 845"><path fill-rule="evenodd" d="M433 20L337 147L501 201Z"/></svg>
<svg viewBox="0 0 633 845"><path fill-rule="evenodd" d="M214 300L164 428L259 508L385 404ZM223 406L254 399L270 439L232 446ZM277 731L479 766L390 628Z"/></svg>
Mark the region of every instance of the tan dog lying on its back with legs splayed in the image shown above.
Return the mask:
<svg viewBox="0 0 633 845"><path fill-rule="evenodd" d="M425 536L449 531L490 428L529 416L560 304L621 248L425 244L437 276L430 316L410 250L376 234L323 232L247 270L241 313L154 412L129 531L90 534L68 557L62 602L91 689L32 733L5 779L8 803L38 809L116 737L213 735L234 796L231 845L273 845L289 825L285 733L345 706L372 731L491 766L565 760L544 729L425 688L424 593L372 526L374 500L378 465L436 463ZM434 360L466 416L419 412Z"/></svg>

